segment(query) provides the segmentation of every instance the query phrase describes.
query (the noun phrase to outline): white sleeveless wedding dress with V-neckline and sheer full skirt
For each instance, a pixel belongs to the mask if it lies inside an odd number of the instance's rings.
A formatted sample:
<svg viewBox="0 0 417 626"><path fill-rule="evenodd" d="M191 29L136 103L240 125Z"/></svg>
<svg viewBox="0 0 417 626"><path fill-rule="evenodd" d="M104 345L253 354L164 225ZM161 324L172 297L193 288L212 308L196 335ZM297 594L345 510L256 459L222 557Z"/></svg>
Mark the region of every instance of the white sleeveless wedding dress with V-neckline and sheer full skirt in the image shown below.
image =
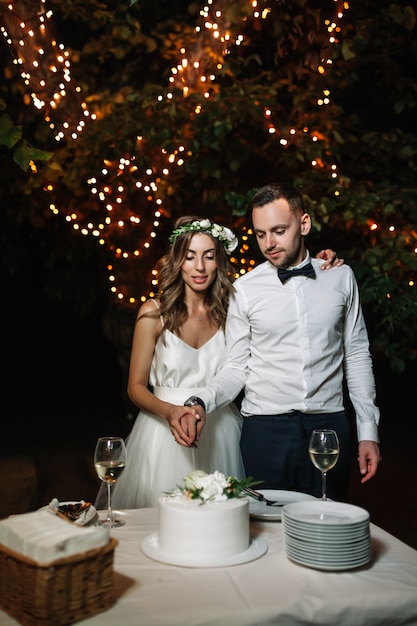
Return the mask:
<svg viewBox="0 0 417 626"><path fill-rule="evenodd" d="M166 331L156 343L149 374L153 393L162 400L182 405L210 383L225 358L221 329L198 349ZM140 411L126 440L126 468L112 488L113 507L155 507L162 492L181 485L184 476L195 469L207 473L218 470L226 476L243 479L241 427L242 417L235 405L218 409L207 415L198 447L190 449L175 441L166 420ZM100 494L99 504L106 508L101 495L104 494Z"/></svg>

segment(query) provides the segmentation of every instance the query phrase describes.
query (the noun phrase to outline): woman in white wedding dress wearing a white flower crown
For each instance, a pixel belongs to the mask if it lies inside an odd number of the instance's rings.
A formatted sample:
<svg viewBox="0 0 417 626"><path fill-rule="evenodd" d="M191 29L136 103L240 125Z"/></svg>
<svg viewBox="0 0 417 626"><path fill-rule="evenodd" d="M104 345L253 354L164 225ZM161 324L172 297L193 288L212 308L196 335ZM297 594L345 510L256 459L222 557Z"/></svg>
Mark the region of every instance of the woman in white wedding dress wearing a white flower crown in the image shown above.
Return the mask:
<svg viewBox="0 0 417 626"><path fill-rule="evenodd" d="M195 469L245 477L237 407L207 415L194 444L198 411L188 424L190 416L180 420L177 406L198 395L225 361L233 291L228 254L238 241L230 229L191 216L177 221L170 242L161 259L159 296L145 302L136 318L128 395L140 411L127 438L126 468L113 487L115 508L154 507L161 492ZM103 495L101 490L98 506Z"/></svg>

